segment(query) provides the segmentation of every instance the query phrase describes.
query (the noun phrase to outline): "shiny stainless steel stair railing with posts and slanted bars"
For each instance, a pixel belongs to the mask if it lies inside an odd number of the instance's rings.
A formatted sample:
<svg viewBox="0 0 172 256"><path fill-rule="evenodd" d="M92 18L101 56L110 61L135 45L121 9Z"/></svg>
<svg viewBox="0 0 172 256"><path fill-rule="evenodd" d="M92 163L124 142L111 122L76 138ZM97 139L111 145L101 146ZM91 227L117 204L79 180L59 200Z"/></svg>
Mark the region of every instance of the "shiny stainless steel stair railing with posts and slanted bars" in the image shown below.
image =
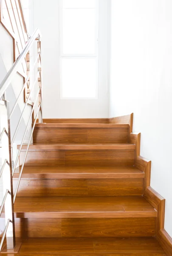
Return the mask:
<svg viewBox="0 0 172 256"><path fill-rule="evenodd" d="M8 89L8 86L10 83L15 79L16 73L19 73L20 67L26 59L26 55L28 52L31 50L31 48L34 46L34 42L37 41L37 49L38 49L38 54L37 57L34 61L33 67L31 70L28 70L28 75L27 77L24 78L23 80L23 86L22 89L20 90L20 93L16 96L16 102L14 103L14 106L11 110L9 111L9 102L6 100L6 90ZM41 61L41 34L39 30L37 29L34 34L31 36L31 38L28 40L27 44L23 48L22 52L20 52L20 55L14 62L13 66L11 69L8 71L6 77L3 79L2 83L0 84L0 128L2 131L0 131L0 141L2 145L2 163L3 166L0 169L0 177L4 176L5 179L3 180L3 186L5 186L4 189L4 197L3 197L3 202L0 206L0 215L4 214L5 215L5 220L6 220L6 227L5 230L3 231L3 236L0 241L0 251L3 247L3 243L6 238L6 244L8 249L12 249L15 247L15 226L14 226L14 202L17 196L17 191L20 185L20 179L22 176L23 168L25 165L25 160L28 154L28 149L31 144L32 140L32 135L35 127L35 123L37 118L39 119L39 122L42 122L42 61ZM37 67L36 67L37 66ZM30 79L31 74L34 73L35 69L37 68L37 75L35 79ZM34 80L33 82L31 82ZM28 90L28 81L30 81L29 85L29 93L27 93ZM37 88L37 89L36 89ZM35 93L36 91L36 93ZM11 138L11 126L10 126L10 121L11 121L11 116L14 114L14 110L16 109L17 105L19 104L21 100L21 95L25 93L26 97L24 100L24 108L21 111L21 115L19 118L19 121L17 123L17 126L14 131L14 135ZM32 99L34 94L34 100ZM25 116L25 110L27 105L31 105L31 112L28 116L28 122L25 127L24 135L21 140L20 148L17 153L17 157L14 160L13 159L13 154L12 154L12 147L14 145L14 141L17 136L17 132L19 131L21 121L23 117ZM37 107L36 114L34 115L34 110ZM20 169L20 174L17 182L17 187L14 191L13 194L13 175L17 166L17 162L20 157L20 152L22 150L23 144L25 143L25 137L28 132L29 125L31 125L31 120L32 120L32 129L29 134L29 140L27 143L27 149L25 152L23 164ZM2 126L3 125L3 126ZM4 211L3 211L4 209Z"/></svg>

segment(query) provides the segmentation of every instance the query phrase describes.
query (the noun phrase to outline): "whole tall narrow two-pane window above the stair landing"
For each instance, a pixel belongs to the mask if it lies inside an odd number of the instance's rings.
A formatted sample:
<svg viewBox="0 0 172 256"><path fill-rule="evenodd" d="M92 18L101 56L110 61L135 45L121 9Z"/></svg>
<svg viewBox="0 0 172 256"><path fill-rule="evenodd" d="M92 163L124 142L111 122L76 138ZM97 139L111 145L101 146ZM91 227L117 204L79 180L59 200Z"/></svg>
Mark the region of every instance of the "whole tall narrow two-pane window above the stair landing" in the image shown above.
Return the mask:
<svg viewBox="0 0 172 256"><path fill-rule="evenodd" d="M61 99L98 95L98 0L60 1Z"/></svg>

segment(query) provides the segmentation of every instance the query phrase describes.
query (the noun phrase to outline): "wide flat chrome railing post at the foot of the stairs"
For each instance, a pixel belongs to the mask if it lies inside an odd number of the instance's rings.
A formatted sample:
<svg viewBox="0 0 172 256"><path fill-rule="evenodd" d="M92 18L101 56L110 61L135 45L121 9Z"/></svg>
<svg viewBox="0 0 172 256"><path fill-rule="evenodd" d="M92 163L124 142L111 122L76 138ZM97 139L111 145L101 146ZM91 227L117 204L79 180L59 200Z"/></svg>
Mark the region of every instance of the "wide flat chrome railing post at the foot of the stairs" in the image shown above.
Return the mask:
<svg viewBox="0 0 172 256"><path fill-rule="evenodd" d="M13 184L12 184L12 159L11 159L11 137L10 137L10 119L9 119L9 102L0 101L0 130L6 128L7 134L3 134L1 139L2 146L2 163L7 159L3 170L3 196L8 189L9 193L5 201L5 221L6 224L10 219L6 232L7 249L15 247L15 227L14 227L14 204L13 204Z"/></svg>

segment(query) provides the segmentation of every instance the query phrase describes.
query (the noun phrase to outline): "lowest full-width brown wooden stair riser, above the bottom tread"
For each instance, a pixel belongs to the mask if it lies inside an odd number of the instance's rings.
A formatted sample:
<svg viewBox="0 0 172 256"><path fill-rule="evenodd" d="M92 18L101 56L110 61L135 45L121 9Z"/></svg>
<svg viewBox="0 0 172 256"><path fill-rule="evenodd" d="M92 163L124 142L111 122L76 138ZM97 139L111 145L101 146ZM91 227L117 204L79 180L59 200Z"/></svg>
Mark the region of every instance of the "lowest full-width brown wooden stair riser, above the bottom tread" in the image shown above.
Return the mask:
<svg viewBox="0 0 172 256"><path fill-rule="evenodd" d="M15 218L16 236L147 237L155 236L155 218Z"/></svg>

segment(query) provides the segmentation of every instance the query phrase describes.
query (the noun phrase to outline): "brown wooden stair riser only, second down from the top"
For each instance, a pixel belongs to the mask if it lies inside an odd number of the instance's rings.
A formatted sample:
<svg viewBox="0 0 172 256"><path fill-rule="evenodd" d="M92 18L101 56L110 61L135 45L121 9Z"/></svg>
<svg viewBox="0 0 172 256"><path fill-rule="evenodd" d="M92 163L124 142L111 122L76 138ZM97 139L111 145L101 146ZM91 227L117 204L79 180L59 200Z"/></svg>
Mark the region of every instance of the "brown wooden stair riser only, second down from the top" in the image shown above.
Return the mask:
<svg viewBox="0 0 172 256"><path fill-rule="evenodd" d="M23 164L25 150L20 153ZM28 151L26 165L134 165L133 149Z"/></svg>

